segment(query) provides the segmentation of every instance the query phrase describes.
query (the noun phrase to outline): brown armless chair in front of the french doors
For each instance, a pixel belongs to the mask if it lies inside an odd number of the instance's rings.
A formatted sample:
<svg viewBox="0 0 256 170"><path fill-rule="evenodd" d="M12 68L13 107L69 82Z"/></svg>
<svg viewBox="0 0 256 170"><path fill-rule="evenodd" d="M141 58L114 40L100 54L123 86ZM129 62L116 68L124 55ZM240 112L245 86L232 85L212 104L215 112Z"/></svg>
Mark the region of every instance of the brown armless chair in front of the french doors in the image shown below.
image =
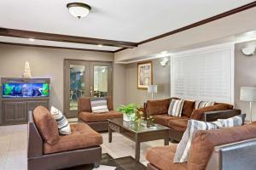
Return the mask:
<svg viewBox="0 0 256 170"><path fill-rule="evenodd" d="M79 99L79 122L85 122L97 132L108 131L108 119L122 118L123 114L113 110L113 100L107 97L108 113L92 113L90 97Z"/></svg>

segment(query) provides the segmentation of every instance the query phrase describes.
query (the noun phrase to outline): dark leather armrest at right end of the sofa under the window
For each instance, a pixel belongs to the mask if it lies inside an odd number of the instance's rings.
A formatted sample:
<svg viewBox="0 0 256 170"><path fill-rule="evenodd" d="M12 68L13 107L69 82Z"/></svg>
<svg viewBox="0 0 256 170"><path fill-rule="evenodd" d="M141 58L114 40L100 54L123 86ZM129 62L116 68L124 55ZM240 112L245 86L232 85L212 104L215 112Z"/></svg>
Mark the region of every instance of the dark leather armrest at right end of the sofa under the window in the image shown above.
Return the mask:
<svg viewBox="0 0 256 170"><path fill-rule="evenodd" d="M237 115L241 115L241 110L232 109L225 111L207 111L204 113L203 121L213 122L217 121L217 119L227 119Z"/></svg>

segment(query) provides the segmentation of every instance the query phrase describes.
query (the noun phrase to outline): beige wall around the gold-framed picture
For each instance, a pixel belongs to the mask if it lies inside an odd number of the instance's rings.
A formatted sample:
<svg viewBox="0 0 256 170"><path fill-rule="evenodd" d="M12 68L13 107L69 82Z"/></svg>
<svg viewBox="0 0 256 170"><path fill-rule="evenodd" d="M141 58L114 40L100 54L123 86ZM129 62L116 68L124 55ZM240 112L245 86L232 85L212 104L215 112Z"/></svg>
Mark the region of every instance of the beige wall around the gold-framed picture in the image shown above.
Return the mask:
<svg viewBox="0 0 256 170"><path fill-rule="evenodd" d="M154 99L170 97L170 64L163 67L160 60L152 60L153 84L158 85L158 93L154 94ZM126 103L143 105L147 99L151 99L151 94L147 90L137 89L137 63L126 65Z"/></svg>

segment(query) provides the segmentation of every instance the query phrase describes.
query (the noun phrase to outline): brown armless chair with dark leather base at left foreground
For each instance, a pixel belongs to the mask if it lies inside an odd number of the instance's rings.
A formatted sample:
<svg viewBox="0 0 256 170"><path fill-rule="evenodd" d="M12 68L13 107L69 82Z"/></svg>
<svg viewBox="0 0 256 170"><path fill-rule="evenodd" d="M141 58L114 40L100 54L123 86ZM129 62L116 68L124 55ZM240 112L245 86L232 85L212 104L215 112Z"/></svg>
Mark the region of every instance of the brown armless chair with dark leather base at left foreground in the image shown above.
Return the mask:
<svg viewBox="0 0 256 170"><path fill-rule="evenodd" d="M43 106L29 113L27 169L48 170L94 163L102 159L102 135L84 123L71 124L72 134L59 135L55 118Z"/></svg>

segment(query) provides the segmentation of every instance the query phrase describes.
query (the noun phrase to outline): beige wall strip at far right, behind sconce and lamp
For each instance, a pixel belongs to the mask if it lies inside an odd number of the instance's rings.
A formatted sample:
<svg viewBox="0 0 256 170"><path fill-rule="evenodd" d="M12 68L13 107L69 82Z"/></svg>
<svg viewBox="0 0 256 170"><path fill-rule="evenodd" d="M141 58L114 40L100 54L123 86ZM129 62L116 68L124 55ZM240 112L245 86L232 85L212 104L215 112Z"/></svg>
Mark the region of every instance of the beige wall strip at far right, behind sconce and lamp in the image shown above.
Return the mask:
<svg viewBox="0 0 256 170"><path fill-rule="evenodd" d="M235 46L235 105L243 113L247 113L249 120L249 103L240 101L240 88L256 87L256 55L247 57L241 54L241 48L247 45L256 46L256 41L237 43ZM256 121L256 104L253 104L253 120Z"/></svg>

